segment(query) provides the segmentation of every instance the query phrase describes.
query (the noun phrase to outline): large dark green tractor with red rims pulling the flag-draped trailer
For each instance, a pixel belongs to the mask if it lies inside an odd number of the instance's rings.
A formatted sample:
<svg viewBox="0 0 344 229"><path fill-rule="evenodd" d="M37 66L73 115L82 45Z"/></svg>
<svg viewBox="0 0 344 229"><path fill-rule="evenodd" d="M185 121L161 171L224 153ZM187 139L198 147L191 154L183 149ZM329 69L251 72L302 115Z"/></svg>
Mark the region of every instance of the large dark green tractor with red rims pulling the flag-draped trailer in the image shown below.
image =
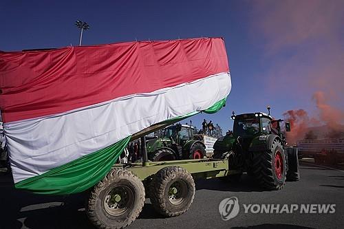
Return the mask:
<svg viewBox="0 0 344 229"><path fill-rule="evenodd" d="M242 173L247 172L264 188L277 190L286 180L299 180L299 161L297 148L287 147L281 130L284 120L273 120L268 109L269 114L235 115L233 112L233 132L215 142L213 157L228 158L229 168L241 171L229 175L230 180L238 180ZM290 123L285 124L285 130L290 131Z"/></svg>

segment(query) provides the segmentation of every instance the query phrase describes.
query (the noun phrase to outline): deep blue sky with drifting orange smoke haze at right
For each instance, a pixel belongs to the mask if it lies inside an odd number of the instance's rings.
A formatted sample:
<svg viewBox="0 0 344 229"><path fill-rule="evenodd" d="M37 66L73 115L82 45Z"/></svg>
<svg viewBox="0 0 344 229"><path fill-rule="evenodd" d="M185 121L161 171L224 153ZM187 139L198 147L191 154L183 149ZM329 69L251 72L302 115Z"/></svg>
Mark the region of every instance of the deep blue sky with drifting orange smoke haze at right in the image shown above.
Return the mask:
<svg viewBox="0 0 344 229"><path fill-rule="evenodd" d="M289 109L319 116L312 94L343 102L343 1L1 1L0 50L222 36L233 88L227 105L203 118L231 129L230 113ZM343 65L343 66L342 66ZM186 120L189 122L189 120Z"/></svg>

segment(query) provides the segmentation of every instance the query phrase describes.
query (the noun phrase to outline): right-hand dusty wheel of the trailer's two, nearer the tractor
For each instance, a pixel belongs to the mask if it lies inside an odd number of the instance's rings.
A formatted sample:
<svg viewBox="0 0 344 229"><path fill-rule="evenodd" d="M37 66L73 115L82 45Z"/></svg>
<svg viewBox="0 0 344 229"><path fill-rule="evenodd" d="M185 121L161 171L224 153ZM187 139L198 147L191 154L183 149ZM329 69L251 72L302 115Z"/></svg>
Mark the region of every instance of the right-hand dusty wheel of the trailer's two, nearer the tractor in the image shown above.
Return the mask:
<svg viewBox="0 0 344 229"><path fill-rule="evenodd" d="M182 215L195 197L195 182L185 168L169 166L153 177L149 197L157 212L167 217Z"/></svg>

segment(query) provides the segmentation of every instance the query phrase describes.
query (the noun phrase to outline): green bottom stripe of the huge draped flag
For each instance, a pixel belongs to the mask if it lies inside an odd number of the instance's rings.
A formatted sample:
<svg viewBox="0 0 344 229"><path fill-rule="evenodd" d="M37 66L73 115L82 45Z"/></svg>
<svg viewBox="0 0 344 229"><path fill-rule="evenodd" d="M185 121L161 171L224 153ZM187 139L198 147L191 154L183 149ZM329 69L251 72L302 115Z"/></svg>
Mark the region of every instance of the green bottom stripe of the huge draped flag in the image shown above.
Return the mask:
<svg viewBox="0 0 344 229"><path fill-rule="evenodd" d="M226 98L219 100L215 105L209 107L205 113L215 113L226 104ZM164 123L174 123L195 114L198 111L166 120ZM109 173L111 166L118 160L120 153L129 143L131 136L100 149L89 155L80 157L72 162L63 164L41 175L36 175L15 184L16 188L30 190L33 193L67 195L80 193L91 188Z"/></svg>

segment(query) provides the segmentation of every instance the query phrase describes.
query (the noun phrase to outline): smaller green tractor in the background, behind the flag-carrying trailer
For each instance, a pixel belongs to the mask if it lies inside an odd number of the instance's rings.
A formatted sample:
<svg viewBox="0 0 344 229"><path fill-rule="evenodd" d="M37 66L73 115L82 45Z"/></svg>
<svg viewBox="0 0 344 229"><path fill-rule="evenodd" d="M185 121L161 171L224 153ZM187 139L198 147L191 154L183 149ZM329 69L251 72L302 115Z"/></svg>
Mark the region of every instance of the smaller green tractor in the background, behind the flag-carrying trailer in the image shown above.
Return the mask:
<svg viewBox="0 0 344 229"><path fill-rule="evenodd" d="M202 140L195 139L197 137L189 125L166 127L162 137L147 141L148 159L152 162L202 159L206 155L206 146Z"/></svg>

